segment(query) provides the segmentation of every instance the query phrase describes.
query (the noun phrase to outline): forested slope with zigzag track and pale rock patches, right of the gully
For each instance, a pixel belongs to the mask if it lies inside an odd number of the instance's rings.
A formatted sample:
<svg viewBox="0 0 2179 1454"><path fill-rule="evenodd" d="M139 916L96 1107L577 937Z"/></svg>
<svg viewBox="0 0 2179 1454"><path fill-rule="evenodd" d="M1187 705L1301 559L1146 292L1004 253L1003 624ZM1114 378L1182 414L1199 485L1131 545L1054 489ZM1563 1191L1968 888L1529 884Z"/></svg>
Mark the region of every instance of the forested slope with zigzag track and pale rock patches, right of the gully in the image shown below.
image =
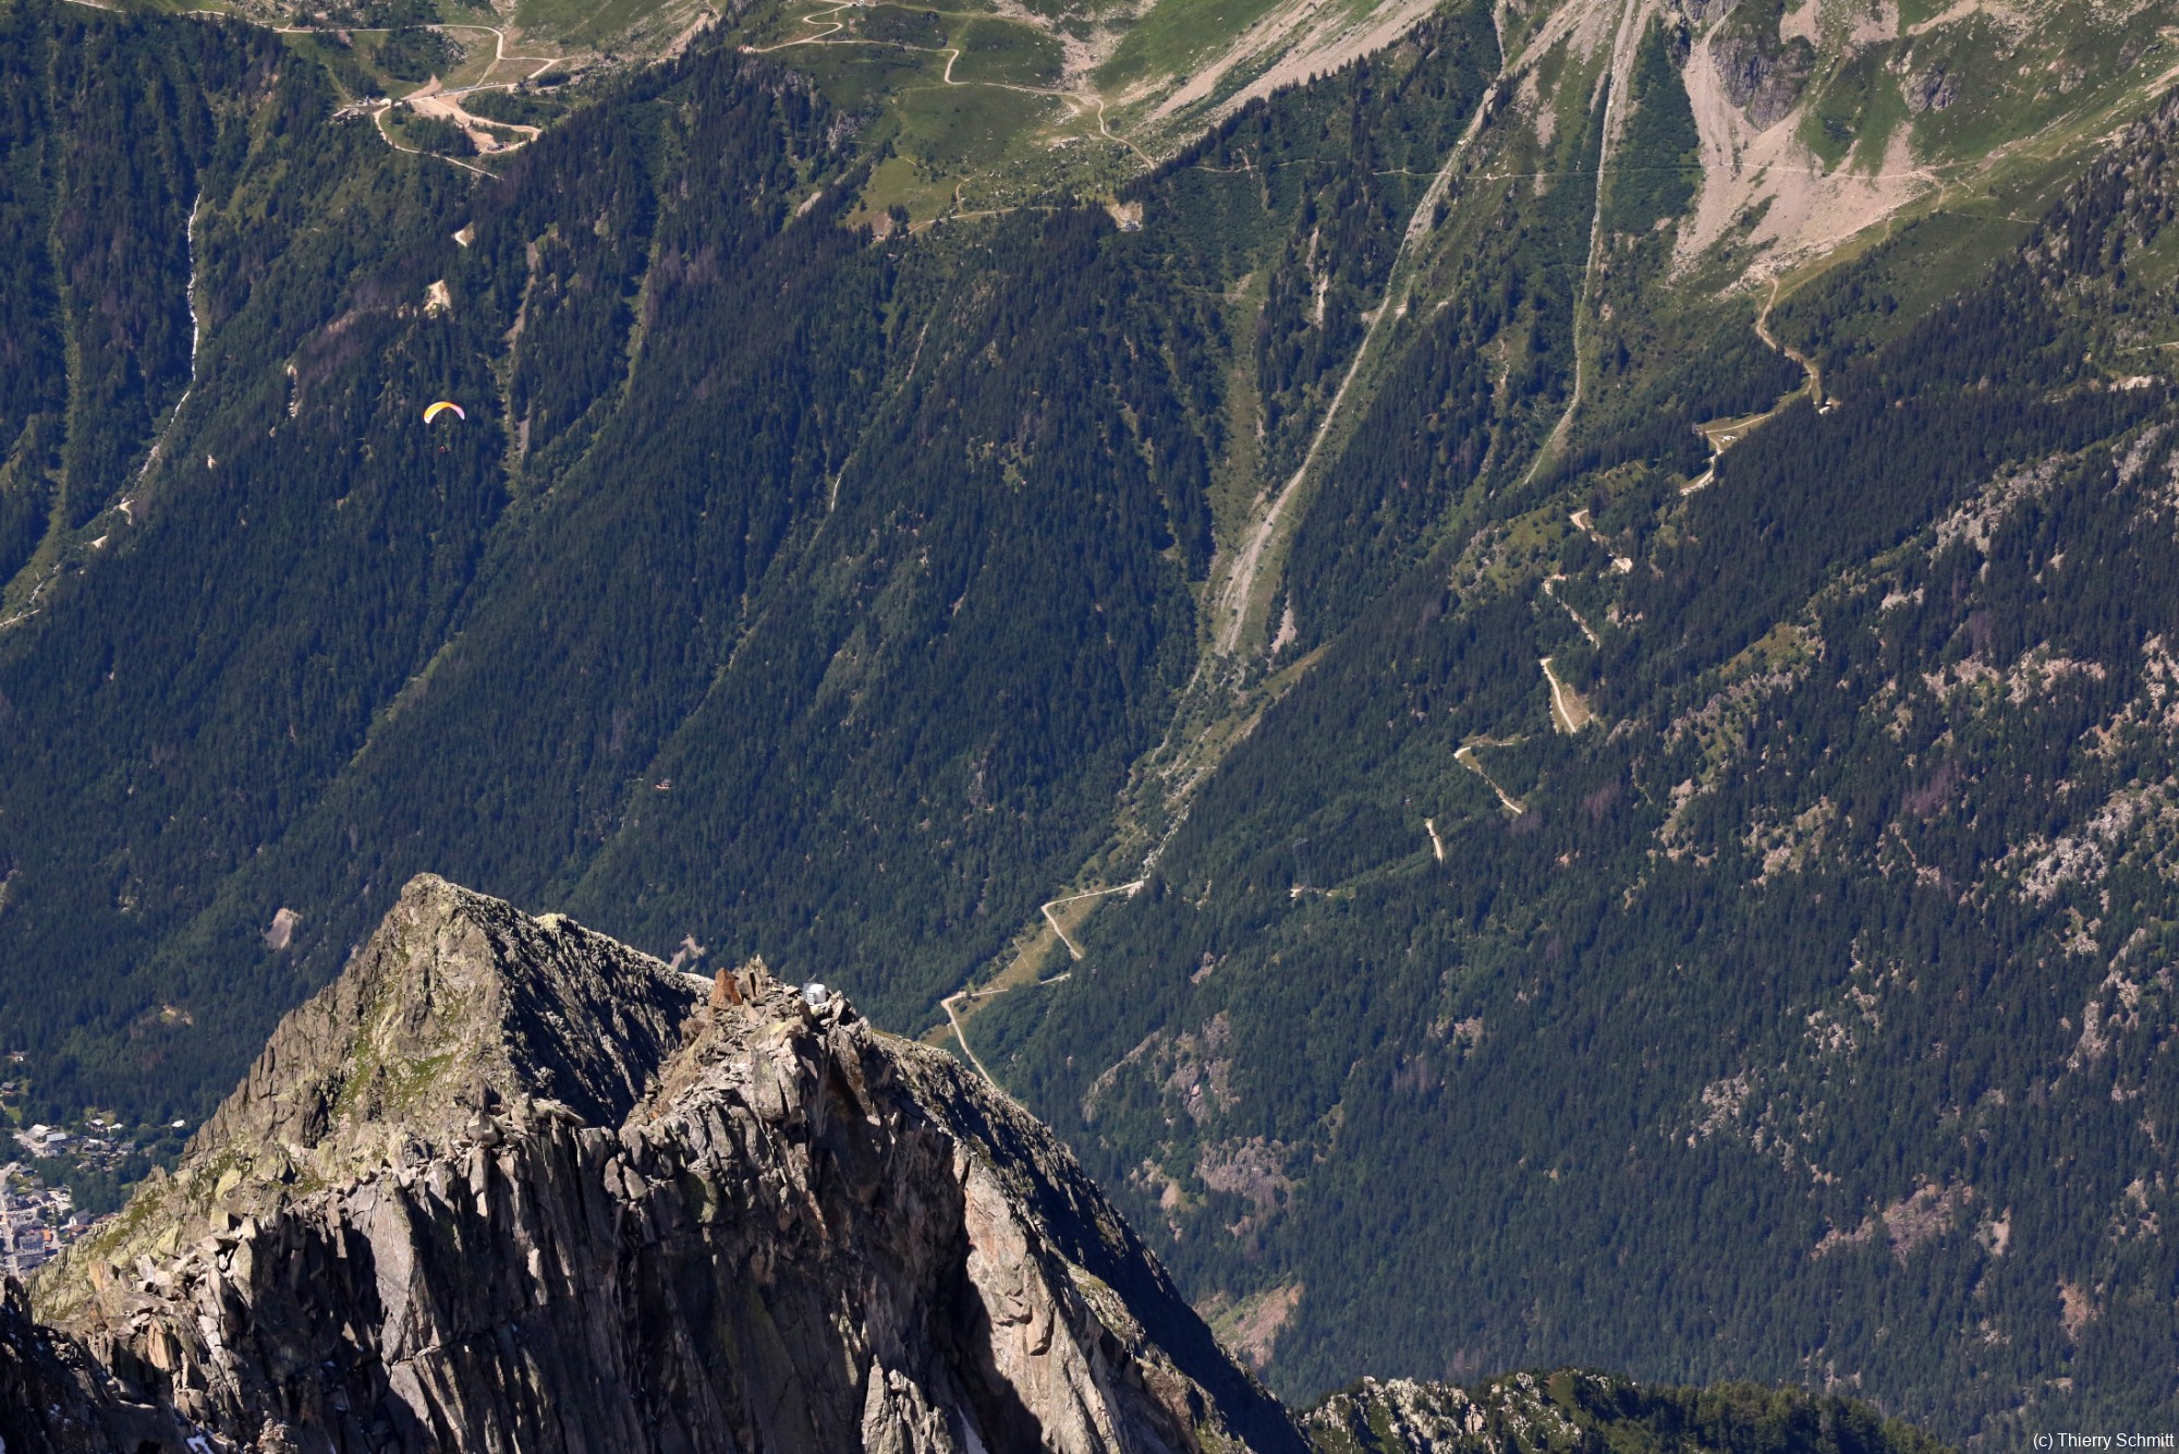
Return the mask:
<svg viewBox="0 0 2179 1454"><path fill-rule="evenodd" d="M2170 1417L2172 395L2107 362L2170 126L1702 490L1636 449L1381 584L978 1022L1275 1380Z"/></svg>

